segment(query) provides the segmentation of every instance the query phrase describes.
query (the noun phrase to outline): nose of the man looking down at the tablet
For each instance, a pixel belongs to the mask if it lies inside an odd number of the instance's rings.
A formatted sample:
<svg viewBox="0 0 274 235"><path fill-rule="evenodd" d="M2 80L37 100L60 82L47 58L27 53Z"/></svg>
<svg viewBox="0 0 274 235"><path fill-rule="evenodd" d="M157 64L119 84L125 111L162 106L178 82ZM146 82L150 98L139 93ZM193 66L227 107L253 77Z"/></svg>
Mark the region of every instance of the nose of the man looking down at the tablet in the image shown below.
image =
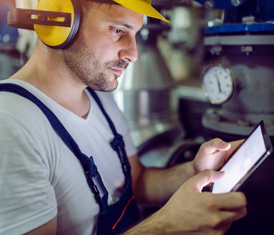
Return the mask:
<svg viewBox="0 0 274 235"><path fill-rule="evenodd" d="M135 36L123 40L119 57L126 62L135 62L138 58Z"/></svg>

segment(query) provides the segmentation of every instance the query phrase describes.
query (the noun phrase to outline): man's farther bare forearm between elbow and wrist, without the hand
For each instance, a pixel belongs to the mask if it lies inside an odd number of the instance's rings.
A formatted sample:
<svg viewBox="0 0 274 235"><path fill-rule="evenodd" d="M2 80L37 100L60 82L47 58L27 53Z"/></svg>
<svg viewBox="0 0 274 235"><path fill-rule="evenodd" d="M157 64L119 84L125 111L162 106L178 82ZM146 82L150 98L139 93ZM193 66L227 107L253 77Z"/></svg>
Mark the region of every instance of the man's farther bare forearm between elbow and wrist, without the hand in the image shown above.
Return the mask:
<svg viewBox="0 0 274 235"><path fill-rule="evenodd" d="M144 168L137 182L136 200L143 204L164 204L194 174L192 162L169 169Z"/></svg>

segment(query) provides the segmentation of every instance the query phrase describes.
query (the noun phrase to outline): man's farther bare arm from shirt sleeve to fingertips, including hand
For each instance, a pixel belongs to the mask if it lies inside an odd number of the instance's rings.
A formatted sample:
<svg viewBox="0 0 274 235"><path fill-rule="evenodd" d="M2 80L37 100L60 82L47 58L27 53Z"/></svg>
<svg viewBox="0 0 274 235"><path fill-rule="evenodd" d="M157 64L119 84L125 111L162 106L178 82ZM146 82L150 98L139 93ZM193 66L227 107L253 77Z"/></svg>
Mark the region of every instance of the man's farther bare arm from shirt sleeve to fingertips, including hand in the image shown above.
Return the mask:
<svg viewBox="0 0 274 235"><path fill-rule="evenodd" d="M137 155L129 157L136 200L148 205L163 205L189 178L204 169L219 170L242 142L223 143L221 139L205 142L193 161L169 169L145 168Z"/></svg>

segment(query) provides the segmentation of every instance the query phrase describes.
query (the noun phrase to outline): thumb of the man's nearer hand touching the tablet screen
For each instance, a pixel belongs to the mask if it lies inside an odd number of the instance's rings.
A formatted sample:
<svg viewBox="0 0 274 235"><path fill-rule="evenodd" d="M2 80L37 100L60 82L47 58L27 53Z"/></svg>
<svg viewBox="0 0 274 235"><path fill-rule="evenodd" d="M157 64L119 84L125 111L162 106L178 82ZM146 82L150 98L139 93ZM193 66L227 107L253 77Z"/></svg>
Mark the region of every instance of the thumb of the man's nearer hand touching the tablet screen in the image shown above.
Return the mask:
<svg viewBox="0 0 274 235"><path fill-rule="evenodd" d="M217 172L213 170L203 170L199 174L187 180L184 185L186 189L202 192L203 187L209 183L219 181L225 176L225 172Z"/></svg>

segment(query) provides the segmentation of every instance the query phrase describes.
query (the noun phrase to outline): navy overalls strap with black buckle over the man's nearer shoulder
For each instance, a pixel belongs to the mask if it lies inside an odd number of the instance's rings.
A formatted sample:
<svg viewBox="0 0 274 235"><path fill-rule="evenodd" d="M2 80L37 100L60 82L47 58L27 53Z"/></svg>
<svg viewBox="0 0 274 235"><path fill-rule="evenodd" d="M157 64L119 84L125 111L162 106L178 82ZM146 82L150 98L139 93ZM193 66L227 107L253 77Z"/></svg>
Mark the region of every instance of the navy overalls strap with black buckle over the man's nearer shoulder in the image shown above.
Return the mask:
<svg viewBox="0 0 274 235"><path fill-rule="evenodd" d="M85 171L85 175L87 178L88 185L90 186L90 189L92 190L96 202L103 207L108 206L108 192L103 184L103 181L100 177L100 174L98 172L98 169L94 163L93 157L87 157L85 154L83 154L75 142L75 140L71 137L70 133L66 130L66 128L62 125L60 120L56 117L56 115L47 108L42 101L40 101L35 95L30 93L25 88L22 88L19 85L12 84L12 83L2 83L0 84L0 91L15 93L17 95L20 95L31 102L33 102L35 105L38 106L38 108L44 113L44 115L49 120L52 127L56 130L58 135L62 138L62 140L65 142L67 147L72 151L72 153L79 159L79 161L82 164L82 167ZM117 133L117 132L116 132Z"/></svg>

